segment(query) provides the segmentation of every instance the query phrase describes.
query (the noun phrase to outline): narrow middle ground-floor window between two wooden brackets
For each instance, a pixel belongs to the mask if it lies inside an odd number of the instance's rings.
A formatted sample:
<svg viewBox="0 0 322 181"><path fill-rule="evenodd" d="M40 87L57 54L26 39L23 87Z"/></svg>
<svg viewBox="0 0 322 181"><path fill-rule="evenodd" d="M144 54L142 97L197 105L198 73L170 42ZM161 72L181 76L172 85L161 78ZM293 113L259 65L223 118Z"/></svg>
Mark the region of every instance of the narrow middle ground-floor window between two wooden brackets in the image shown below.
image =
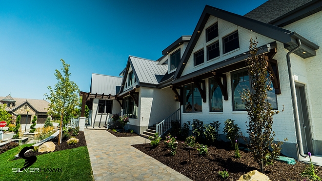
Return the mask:
<svg viewBox="0 0 322 181"><path fill-rule="evenodd" d="M214 78L209 79L210 111L222 111L222 93L219 84Z"/></svg>

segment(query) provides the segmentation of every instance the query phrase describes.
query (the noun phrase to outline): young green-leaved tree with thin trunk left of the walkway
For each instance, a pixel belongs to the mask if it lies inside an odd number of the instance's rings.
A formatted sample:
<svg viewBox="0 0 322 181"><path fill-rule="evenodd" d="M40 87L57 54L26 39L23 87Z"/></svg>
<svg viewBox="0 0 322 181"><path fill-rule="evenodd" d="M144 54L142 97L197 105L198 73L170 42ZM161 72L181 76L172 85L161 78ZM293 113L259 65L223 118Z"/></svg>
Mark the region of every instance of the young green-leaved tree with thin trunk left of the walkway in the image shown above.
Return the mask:
<svg viewBox="0 0 322 181"><path fill-rule="evenodd" d="M55 88L52 89L48 86L49 95L45 94L46 99L49 100L48 115L54 117L60 116L60 137L63 118L67 114L75 115L77 112L77 105L79 101L80 89L74 81L69 79L69 64L60 59L62 63L61 72L55 70L55 76L58 82L55 84ZM60 138L59 137L59 138ZM61 139L59 143L61 142Z"/></svg>

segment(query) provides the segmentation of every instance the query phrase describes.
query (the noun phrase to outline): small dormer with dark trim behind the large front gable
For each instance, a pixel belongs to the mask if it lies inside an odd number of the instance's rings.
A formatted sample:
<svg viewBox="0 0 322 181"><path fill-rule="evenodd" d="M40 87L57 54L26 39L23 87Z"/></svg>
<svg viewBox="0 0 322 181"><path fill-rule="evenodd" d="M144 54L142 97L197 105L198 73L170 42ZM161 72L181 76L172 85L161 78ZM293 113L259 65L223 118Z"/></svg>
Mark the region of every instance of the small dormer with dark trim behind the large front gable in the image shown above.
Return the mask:
<svg viewBox="0 0 322 181"><path fill-rule="evenodd" d="M162 51L162 55L165 56L158 64L168 64L168 73L176 71L190 38L191 36L182 36Z"/></svg>

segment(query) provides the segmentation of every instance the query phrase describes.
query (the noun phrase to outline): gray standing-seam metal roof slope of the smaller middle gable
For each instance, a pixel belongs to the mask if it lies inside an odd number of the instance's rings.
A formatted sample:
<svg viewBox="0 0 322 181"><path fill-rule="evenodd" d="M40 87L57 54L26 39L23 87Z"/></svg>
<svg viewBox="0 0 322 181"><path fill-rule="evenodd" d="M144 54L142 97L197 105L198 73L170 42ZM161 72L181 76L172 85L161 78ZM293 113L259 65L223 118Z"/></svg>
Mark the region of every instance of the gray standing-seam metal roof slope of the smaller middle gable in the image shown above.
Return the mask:
<svg viewBox="0 0 322 181"><path fill-rule="evenodd" d="M129 56L133 71L140 83L158 84L168 71L168 65L158 65L158 61Z"/></svg>

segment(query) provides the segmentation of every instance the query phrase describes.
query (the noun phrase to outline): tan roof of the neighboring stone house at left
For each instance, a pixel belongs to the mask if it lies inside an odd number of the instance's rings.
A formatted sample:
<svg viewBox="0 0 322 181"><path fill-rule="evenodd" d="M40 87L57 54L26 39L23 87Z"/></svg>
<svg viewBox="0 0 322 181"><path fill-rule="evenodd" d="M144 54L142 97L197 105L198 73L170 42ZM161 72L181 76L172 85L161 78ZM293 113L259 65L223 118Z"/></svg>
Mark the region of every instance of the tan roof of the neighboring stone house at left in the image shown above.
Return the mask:
<svg viewBox="0 0 322 181"><path fill-rule="evenodd" d="M3 100L5 97L0 97L0 100ZM16 101L16 105L14 107L10 107L12 111L16 111L18 108L20 108L22 105L24 105L26 102L30 105L31 108L33 108L36 112L40 113L46 113L47 107L49 102L45 100L35 100L35 99L25 99L25 98L13 98L14 101Z"/></svg>

